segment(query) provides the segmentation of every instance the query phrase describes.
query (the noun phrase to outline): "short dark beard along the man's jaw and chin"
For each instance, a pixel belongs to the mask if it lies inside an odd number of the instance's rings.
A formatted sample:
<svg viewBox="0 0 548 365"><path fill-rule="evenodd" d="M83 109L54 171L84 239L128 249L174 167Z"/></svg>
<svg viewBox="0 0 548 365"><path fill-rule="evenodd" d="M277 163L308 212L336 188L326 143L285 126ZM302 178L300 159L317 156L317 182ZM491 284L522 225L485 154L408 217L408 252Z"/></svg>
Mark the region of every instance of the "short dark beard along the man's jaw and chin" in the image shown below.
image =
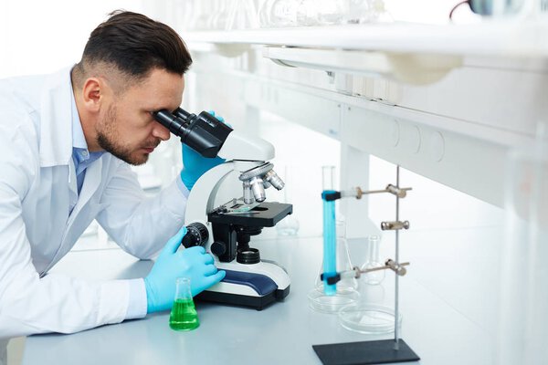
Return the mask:
<svg viewBox="0 0 548 365"><path fill-rule="evenodd" d="M97 143L100 148L111 153L111 155L119 158L121 161L134 166L147 162L149 153L134 151L129 145L121 143L123 138L120 136L118 130L116 130L117 121L116 107L111 105L104 119L96 127ZM157 146L158 144L160 144L160 141L153 139L144 143L143 147Z"/></svg>

